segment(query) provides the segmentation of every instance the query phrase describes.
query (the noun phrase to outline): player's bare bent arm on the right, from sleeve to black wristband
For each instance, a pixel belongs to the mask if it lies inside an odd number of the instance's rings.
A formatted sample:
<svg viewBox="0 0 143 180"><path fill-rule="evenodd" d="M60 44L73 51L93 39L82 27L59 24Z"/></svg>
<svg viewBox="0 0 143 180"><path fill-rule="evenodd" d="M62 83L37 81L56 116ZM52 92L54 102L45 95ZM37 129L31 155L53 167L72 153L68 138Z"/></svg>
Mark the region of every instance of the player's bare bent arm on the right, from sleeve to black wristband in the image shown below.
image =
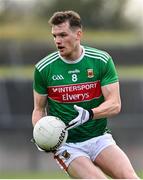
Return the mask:
<svg viewBox="0 0 143 180"><path fill-rule="evenodd" d="M97 108L92 109L93 119L111 117L121 110L119 82L102 86L101 89L105 101Z"/></svg>

